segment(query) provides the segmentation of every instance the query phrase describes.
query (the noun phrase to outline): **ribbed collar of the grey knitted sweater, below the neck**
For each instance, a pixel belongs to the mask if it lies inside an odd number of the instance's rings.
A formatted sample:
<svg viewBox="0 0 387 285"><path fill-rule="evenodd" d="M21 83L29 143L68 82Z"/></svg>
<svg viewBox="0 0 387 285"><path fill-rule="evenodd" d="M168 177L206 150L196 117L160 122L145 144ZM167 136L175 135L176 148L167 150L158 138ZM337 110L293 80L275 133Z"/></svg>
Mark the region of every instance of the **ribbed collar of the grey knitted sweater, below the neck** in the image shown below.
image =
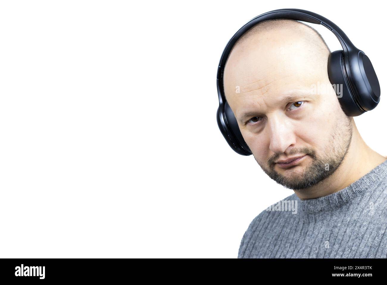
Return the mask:
<svg viewBox="0 0 387 285"><path fill-rule="evenodd" d="M301 207L301 210L307 214L312 214L341 207L359 195L362 195L365 190L374 190L380 181L386 179L387 160L379 164L377 167L353 182L348 187L327 196L319 197L316 199L300 200L296 194L293 195L295 195L295 199L298 200L298 204Z"/></svg>

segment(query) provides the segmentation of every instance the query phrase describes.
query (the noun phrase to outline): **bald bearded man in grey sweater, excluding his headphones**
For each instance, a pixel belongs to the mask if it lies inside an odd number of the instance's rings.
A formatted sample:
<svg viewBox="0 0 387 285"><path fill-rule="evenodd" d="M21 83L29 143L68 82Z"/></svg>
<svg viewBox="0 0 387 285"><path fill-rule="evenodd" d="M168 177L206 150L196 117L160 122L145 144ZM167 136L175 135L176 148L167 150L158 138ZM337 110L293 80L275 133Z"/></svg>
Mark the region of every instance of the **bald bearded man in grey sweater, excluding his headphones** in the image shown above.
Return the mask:
<svg viewBox="0 0 387 285"><path fill-rule="evenodd" d="M341 109L329 54L312 27L275 19L228 57L224 92L241 134L263 171L295 192L252 220L238 258L387 257L387 160Z"/></svg>

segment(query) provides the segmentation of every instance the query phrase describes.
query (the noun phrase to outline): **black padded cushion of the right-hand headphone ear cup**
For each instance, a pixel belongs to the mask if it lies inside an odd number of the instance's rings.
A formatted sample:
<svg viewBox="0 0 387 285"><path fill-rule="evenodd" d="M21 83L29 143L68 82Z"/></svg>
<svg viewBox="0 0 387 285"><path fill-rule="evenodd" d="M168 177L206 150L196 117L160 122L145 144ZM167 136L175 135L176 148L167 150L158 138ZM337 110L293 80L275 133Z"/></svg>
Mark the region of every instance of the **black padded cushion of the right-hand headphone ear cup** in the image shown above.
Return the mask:
<svg viewBox="0 0 387 285"><path fill-rule="evenodd" d="M336 96L342 111L347 116L356 117L364 112L358 106L351 92L350 83L344 66L344 50L335 50L328 57L328 77L332 88L336 90ZM340 92L337 92L340 91Z"/></svg>

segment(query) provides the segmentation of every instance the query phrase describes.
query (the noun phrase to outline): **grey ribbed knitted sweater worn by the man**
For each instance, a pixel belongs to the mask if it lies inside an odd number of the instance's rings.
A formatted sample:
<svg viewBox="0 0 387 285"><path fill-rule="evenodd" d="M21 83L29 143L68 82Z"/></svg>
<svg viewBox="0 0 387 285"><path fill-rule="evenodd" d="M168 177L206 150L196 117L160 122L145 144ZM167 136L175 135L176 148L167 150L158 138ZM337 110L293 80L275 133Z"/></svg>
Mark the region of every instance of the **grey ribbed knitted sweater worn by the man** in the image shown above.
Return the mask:
<svg viewBox="0 0 387 285"><path fill-rule="evenodd" d="M387 258L387 160L317 199L294 193L262 211L238 258Z"/></svg>

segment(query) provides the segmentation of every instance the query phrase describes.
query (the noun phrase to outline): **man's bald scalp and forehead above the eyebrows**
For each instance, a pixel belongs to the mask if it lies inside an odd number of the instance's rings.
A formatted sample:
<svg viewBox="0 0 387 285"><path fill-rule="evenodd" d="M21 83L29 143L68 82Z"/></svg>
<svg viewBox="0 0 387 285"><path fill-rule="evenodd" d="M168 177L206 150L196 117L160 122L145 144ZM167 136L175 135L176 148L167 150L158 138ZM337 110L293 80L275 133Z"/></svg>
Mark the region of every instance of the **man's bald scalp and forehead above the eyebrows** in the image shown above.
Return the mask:
<svg viewBox="0 0 387 285"><path fill-rule="evenodd" d="M329 83L329 54L318 31L302 22L260 22L238 39L229 54L223 76L226 99L235 113L232 97L281 95L291 88L306 90L317 81Z"/></svg>

